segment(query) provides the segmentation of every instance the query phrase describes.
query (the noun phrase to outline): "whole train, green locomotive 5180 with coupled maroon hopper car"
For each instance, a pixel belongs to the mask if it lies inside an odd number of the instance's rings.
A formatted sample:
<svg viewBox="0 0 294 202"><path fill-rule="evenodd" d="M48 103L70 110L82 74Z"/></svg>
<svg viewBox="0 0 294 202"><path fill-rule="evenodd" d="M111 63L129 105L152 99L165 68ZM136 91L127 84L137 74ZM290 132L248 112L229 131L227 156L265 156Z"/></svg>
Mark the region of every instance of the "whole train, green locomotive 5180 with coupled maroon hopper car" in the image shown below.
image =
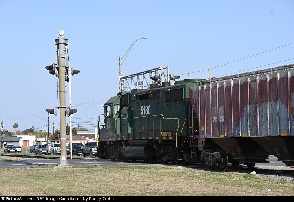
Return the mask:
<svg viewBox="0 0 294 202"><path fill-rule="evenodd" d="M184 79L168 66L119 77L104 104L98 156L226 168L294 165L294 64L217 79Z"/></svg>

